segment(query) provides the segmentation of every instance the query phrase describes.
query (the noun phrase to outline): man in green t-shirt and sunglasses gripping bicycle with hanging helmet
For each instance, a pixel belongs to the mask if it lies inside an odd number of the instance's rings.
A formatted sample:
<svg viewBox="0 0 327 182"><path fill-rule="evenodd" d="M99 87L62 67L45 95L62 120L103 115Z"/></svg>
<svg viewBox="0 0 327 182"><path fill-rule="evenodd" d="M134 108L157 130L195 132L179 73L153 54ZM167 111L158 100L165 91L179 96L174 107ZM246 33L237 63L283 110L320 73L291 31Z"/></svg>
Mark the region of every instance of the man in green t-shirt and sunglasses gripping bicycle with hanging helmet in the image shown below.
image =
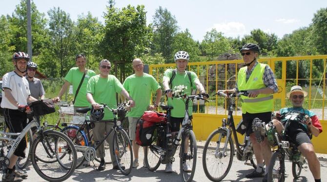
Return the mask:
<svg viewBox="0 0 327 182"><path fill-rule="evenodd" d="M122 94L127 98L130 107L134 107L134 101L129 96L128 92L123 88L123 85L114 75L109 75L111 69L111 63L107 59L103 59L100 62L100 74L93 76L89 79L86 87L87 101L92 105L94 109L100 109L99 103L107 104L109 108L117 108L116 93ZM110 128L114 126L114 115L108 110L104 109L104 117L100 122L95 123L93 128L93 138L96 142L102 141L104 138L103 133L109 132ZM111 132L108 136L107 143L110 147L111 161L113 169L118 169L117 161L112 152L114 132ZM105 169L105 151L104 143L96 151L97 157L101 159L98 170Z"/></svg>

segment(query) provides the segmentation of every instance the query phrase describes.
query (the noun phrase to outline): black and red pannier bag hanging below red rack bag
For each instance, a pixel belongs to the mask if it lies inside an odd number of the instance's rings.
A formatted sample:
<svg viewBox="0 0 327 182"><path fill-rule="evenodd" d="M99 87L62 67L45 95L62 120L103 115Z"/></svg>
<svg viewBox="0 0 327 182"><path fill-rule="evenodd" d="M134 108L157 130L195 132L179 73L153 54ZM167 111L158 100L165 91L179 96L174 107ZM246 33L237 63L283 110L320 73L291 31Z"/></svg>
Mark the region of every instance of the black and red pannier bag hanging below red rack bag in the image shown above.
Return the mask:
<svg viewBox="0 0 327 182"><path fill-rule="evenodd" d="M153 133L156 129L156 124L139 119L136 124L135 142L139 146L150 146L152 143Z"/></svg>

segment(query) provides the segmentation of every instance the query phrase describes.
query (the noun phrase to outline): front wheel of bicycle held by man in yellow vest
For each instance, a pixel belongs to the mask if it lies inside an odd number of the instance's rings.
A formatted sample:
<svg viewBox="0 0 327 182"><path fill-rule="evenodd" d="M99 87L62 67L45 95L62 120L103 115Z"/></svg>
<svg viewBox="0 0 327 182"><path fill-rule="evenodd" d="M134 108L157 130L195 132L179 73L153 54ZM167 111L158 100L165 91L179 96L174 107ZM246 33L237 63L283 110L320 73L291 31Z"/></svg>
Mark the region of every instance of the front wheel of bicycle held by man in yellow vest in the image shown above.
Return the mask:
<svg viewBox="0 0 327 182"><path fill-rule="evenodd" d="M213 182L222 181L232 166L234 143L231 136L228 139L226 137L227 132L224 129L216 129L209 135L204 145L202 156L203 169L205 176ZM222 151L224 151L226 141L228 144L225 156L223 156ZM227 164L227 166L224 167L224 164ZM218 172L218 174L213 174L214 172Z"/></svg>

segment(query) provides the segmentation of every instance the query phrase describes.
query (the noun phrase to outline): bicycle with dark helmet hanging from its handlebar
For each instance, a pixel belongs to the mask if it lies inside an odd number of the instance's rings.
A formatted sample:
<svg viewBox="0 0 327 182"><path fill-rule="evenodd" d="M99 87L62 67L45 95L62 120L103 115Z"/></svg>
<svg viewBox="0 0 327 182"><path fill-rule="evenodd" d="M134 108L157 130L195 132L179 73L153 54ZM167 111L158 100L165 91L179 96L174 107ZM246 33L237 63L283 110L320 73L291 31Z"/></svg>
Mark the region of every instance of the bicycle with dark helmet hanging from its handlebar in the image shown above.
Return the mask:
<svg viewBox="0 0 327 182"><path fill-rule="evenodd" d="M123 129L121 121L117 121L118 117L123 118L125 116L128 105L126 103L121 103L118 105L117 109L110 109L106 104L101 104L103 105L103 108L109 109L114 114L114 126L110 129L109 132L105 134L102 141L97 143L91 138L90 135L90 129L96 121L85 119L81 127L64 127L62 129L62 132L73 141L76 147L76 151L79 153L77 167L80 167L85 161L91 162L96 159L96 150L106 140L110 133L114 131L114 147L112 148L112 150L115 155L119 169L124 175L128 175L131 172L133 165L133 151L129 137ZM89 110L91 110L91 108L77 109L76 111L79 113L86 113ZM84 132L84 130L86 130L86 133ZM106 155L106 157L108 156ZM123 166L123 164L125 164L125 166Z"/></svg>

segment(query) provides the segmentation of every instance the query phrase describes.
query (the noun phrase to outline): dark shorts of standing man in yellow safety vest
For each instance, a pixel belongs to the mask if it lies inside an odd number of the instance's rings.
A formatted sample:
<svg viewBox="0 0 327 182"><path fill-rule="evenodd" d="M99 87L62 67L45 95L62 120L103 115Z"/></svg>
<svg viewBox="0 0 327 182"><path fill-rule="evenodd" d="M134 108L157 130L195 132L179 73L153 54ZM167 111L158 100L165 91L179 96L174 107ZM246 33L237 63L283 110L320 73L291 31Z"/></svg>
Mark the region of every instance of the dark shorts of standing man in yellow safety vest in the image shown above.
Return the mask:
<svg viewBox="0 0 327 182"><path fill-rule="evenodd" d="M253 133L252 130L252 123L254 118L259 118L262 122L266 124L271 121L271 112L261 112L261 113L248 113L242 114L243 121L245 122L246 126L246 135Z"/></svg>

